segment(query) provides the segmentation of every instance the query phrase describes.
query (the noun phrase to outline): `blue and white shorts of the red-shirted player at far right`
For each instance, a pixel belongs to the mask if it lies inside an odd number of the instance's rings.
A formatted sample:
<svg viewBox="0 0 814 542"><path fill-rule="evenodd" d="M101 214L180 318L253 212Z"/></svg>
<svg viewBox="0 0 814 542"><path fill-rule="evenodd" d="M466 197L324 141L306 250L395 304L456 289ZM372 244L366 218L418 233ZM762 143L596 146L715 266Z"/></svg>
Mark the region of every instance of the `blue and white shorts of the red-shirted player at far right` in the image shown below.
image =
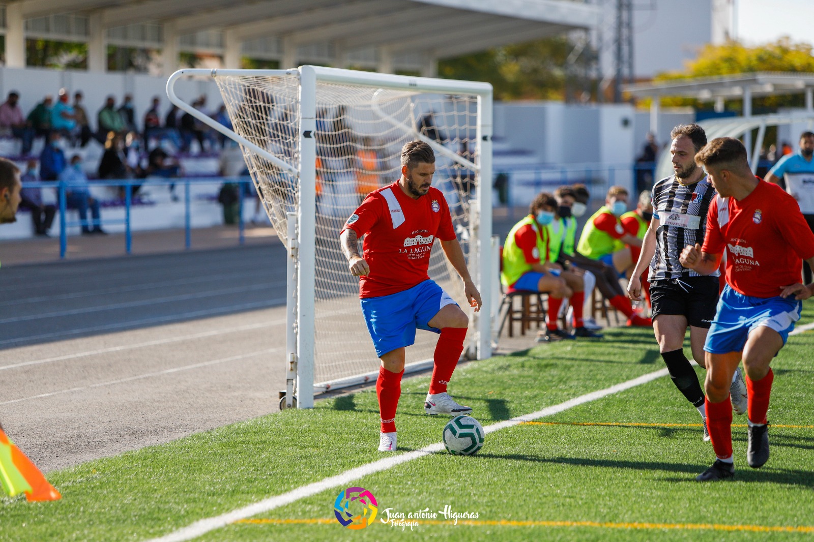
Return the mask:
<svg viewBox="0 0 814 542"><path fill-rule="evenodd" d="M712 354L742 352L749 334L760 326L777 331L786 344L802 309L803 302L794 297L750 297L727 285L718 300L704 350Z"/></svg>

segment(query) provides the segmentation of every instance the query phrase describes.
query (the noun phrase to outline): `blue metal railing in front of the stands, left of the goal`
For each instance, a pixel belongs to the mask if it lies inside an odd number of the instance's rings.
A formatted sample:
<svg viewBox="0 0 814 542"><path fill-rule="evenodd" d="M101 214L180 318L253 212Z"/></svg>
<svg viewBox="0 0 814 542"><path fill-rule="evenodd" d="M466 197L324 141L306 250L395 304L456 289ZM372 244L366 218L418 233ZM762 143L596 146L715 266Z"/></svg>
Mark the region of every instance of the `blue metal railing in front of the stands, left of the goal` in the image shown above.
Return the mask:
<svg viewBox="0 0 814 542"><path fill-rule="evenodd" d="M145 181L149 186L167 186L168 189L171 185L184 187L184 247L189 249L192 246L192 213L191 213L191 190L190 186L193 185L218 185L224 183L232 183L238 185L238 243L243 245L245 243L245 225L243 223L243 185L252 183L251 177L179 177L179 178L161 178L161 179L109 179L90 181L90 188L97 186L109 186L114 188L124 188L125 199L125 217L124 219L107 219L99 218L99 225L124 225L125 226L125 251L127 254L132 254L133 251L133 229L131 228L131 216L133 209L133 186L143 186ZM92 219L86 215L86 221L83 223L81 220L68 221L68 191L71 185L63 181L42 181L36 184L27 183L24 188L33 189L55 189L57 195L57 208L59 209L59 258L64 259L68 251L68 228L76 228L78 226L88 228L92 225ZM90 209L89 209L90 213ZM101 215L101 213L100 213Z"/></svg>

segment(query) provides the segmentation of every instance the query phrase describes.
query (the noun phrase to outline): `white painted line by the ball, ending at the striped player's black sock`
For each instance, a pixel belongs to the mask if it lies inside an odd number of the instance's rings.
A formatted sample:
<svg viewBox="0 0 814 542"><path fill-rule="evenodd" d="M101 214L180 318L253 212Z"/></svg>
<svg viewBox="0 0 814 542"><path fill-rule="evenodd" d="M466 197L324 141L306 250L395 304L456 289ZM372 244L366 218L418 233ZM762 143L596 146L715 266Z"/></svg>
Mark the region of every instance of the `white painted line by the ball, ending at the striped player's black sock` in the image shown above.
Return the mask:
<svg viewBox="0 0 814 542"><path fill-rule="evenodd" d="M504 422L493 423L491 426L484 427L486 433L500 431L506 427L518 425L520 422L531 422L540 417L553 416L554 414L561 413L564 410L571 409L580 404L589 403L591 401L602 399L602 397L610 396L619 391L628 390L631 387L637 387L656 378L667 375L667 369L661 369L652 373L644 374L638 378L633 378L627 382L616 384L615 386L606 387L604 390L592 391L584 396L575 397L574 399L567 400L564 403L555 404L554 406L547 407L537 412L526 414L524 416L513 417ZM214 531L221 527L225 527L230 523L236 522L239 519L251 518L257 514L263 514L269 510L279 508L280 506L290 505L296 500L304 499L305 497L316 495L331 487L347 486L354 480L360 479L368 474L374 474L383 470L392 469L407 461L413 461L419 457L427 456L434 452L440 452L444 449L444 444L436 443L415 450L414 452L400 453L396 456L385 457L379 461L373 461L366 465L358 466L355 469L346 470L343 473L336 474L330 478L322 479L319 482L309 483L307 486L297 487L290 492L283 493L282 495L269 497L268 499L260 500L253 505L244 506L243 508L232 510L226 514L221 514L214 518L201 519L187 527L182 527L177 531L173 531L168 535L154 538L147 542L182 542L182 540L192 540L200 535L204 535L209 531Z"/></svg>

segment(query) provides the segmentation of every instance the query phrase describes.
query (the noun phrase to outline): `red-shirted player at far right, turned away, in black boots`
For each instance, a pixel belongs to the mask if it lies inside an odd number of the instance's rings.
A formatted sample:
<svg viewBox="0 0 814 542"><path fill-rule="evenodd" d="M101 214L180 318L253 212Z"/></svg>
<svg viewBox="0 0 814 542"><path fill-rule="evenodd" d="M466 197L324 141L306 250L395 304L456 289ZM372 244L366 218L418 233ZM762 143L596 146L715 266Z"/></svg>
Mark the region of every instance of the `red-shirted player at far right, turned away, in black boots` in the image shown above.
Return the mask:
<svg viewBox="0 0 814 542"><path fill-rule="evenodd" d="M755 469L768 461L769 362L799 320L801 301L814 294L814 283L799 283L800 260L814 264L814 234L793 197L752 175L737 139L713 139L695 160L718 195L707 212L703 247L685 247L681 264L708 275L727 250L726 287L704 344L707 426L717 457L696 477L706 482L735 474L729 383L741 360L749 390L746 461Z"/></svg>

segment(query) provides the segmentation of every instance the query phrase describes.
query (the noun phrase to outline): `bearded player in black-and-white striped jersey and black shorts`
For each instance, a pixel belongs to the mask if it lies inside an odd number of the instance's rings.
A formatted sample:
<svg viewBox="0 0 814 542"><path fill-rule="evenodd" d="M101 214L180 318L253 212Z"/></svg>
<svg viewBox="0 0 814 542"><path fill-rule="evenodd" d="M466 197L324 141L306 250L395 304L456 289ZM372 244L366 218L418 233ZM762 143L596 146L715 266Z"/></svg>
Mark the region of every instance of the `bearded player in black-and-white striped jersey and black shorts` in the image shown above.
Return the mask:
<svg viewBox="0 0 814 542"><path fill-rule="evenodd" d="M702 276L685 269L679 260L685 246L703 243L707 209L716 191L695 154L707 144L707 134L698 125L678 125L670 133L672 166L675 174L653 186L653 217L641 246L641 255L628 282L628 297L641 299L641 273L650 264L650 304L653 330L659 352L679 391L698 409L707 433L704 392L695 369L684 355L684 337L689 327L693 357L704 367L704 341L718 303L718 276ZM732 381L733 409L746 412L746 385L739 371Z"/></svg>

